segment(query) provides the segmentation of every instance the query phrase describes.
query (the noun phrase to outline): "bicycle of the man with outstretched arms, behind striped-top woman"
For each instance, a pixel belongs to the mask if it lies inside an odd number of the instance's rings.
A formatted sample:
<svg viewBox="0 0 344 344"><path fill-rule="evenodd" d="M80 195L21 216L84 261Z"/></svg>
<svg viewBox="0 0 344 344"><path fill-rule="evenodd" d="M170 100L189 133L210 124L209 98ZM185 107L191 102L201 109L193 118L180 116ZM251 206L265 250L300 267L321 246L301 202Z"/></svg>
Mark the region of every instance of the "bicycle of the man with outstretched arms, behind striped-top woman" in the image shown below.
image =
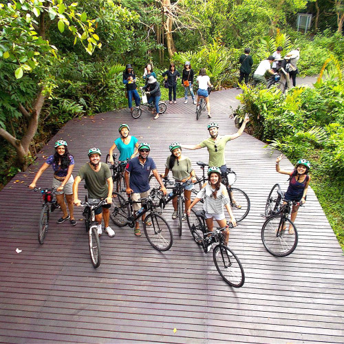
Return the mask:
<svg viewBox="0 0 344 344"><path fill-rule="evenodd" d="M197 195L198 191L200 191L202 188L202 183L208 181L204 171L205 166L208 166L208 164L202 161L197 161L197 165L202 169L202 178L196 176L197 182L195 183L195 186L197 186L197 188L193 189L192 191L194 195ZM244 191L232 187L237 180L237 174L232 169L227 168L226 173L222 174L221 178L222 184L226 186L229 195L230 207L232 208L233 215L236 221L240 222L248 215L248 212L250 211L250 199ZM198 187L200 189L198 189Z"/></svg>

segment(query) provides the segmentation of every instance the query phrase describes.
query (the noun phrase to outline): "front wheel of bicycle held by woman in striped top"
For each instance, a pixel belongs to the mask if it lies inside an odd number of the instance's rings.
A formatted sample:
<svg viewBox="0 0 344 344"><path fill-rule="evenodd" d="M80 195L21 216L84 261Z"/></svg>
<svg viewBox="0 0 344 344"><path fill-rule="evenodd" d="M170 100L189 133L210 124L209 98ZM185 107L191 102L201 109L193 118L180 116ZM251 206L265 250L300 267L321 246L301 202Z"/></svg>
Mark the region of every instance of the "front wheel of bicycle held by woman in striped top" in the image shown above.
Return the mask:
<svg viewBox="0 0 344 344"><path fill-rule="evenodd" d="M219 244L213 250L213 259L222 279L235 288L244 285L245 274L239 258L227 246Z"/></svg>

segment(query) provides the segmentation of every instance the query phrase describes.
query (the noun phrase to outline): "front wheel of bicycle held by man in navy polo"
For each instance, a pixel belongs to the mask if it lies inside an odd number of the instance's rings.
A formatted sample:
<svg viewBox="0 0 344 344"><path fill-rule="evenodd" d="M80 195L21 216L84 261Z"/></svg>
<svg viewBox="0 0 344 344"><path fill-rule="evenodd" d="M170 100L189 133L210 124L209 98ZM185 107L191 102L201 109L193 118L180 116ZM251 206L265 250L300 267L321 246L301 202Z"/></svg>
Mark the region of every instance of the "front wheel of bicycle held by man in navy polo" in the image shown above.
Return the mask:
<svg viewBox="0 0 344 344"><path fill-rule="evenodd" d="M151 226L148 226L151 222ZM164 217L159 214L150 213L144 219L144 234L149 244L158 251L169 250L173 244L172 230Z"/></svg>

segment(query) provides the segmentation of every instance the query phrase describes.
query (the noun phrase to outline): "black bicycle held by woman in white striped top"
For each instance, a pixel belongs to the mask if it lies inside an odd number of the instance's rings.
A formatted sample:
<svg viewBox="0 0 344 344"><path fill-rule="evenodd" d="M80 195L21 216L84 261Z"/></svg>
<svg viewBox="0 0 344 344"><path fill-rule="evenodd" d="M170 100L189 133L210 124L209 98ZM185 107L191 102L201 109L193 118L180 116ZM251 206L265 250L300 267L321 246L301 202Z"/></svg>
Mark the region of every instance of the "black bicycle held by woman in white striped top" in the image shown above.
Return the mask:
<svg viewBox="0 0 344 344"><path fill-rule="evenodd" d="M216 228L213 232L208 231L206 227L205 212L195 211L191 209L190 215L186 217L191 235L195 239L197 245L201 246L204 252L208 252L208 246L216 243L213 248L213 260L219 275L224 281L235 288L240 288L245 283L244 268L242 267L239 258L233 250L224 244L223 230L233 228L230 222L224 228Z"/></svg>

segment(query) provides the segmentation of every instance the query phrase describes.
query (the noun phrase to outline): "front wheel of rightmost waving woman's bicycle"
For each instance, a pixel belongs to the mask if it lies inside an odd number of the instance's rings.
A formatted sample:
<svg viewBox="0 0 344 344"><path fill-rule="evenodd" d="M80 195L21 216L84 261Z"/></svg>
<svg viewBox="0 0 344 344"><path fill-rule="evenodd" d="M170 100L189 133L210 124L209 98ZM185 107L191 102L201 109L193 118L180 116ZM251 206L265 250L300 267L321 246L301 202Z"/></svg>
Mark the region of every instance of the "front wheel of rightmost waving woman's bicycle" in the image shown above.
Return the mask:
<svg viewBox="0 0 344 344"><path fill-rule="evenodd" d="M292 230L289 230L289 227ZM290 234L291 232L294 233ZM271 255L286 257L297 247L297 228L290 219L274 215L268 218L261 228L261 240Z"/></svg>

